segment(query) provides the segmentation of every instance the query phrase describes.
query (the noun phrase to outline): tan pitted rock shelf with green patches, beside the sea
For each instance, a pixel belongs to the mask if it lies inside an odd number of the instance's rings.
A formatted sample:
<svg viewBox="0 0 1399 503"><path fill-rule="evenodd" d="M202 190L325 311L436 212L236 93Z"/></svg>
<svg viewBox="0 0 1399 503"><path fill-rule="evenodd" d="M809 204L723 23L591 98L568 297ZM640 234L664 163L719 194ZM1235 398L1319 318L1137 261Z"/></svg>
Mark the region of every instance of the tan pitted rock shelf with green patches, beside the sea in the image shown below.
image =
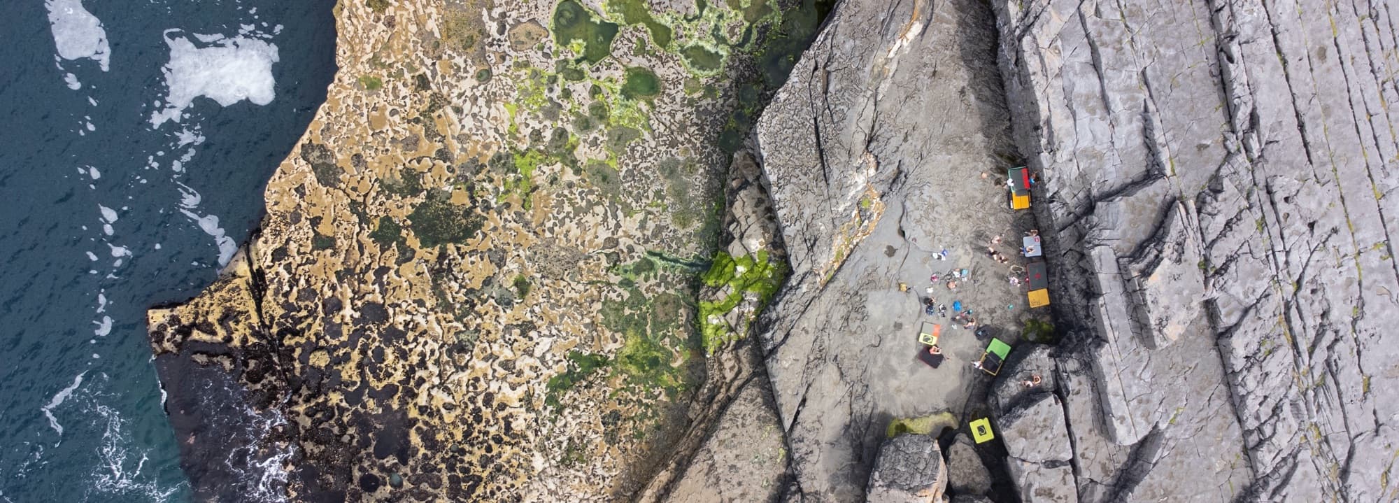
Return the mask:
<svg viewBox="0 0 1399 503"><path fill-rule="evenodd" d="M667 6L340 3L339 74L245 258L150 313L162 380L217 365L284 418L263 443L292 500L641 490L747 384L690 409L720 141L820 20Z"/></svg>

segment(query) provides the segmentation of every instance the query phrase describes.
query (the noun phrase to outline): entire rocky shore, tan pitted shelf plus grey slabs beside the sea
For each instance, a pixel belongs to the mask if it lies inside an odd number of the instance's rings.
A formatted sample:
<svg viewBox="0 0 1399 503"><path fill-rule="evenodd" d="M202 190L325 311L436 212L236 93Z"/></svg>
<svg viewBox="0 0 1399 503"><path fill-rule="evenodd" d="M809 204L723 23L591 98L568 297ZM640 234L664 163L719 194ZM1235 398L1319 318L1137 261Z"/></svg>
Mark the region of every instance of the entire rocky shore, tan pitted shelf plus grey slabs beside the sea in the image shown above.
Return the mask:
<svg viewBox="0 0 1399 503"><path fill-rule="evenodd" d="M213 369L302 500L1399 497L1386 6L660 7L341 3L262 232L151 312L180 439ZM1031 229L1048 309L982 253ZM1000 376L914 359L928 296Z"/></svg>

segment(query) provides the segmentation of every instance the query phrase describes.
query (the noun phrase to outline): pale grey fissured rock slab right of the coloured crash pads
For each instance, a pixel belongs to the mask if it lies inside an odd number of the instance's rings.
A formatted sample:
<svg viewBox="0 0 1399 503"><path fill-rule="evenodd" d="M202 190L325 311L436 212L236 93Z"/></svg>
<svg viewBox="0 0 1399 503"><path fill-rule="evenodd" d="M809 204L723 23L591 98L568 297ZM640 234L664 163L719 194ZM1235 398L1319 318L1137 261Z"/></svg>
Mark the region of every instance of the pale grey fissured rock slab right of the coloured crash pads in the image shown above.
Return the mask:
<svg viewBox="0 0 1399 503"><path fill-rule="evenodd" d="M992 4L1080 496L1399 497L1396 14Z"/></svg>

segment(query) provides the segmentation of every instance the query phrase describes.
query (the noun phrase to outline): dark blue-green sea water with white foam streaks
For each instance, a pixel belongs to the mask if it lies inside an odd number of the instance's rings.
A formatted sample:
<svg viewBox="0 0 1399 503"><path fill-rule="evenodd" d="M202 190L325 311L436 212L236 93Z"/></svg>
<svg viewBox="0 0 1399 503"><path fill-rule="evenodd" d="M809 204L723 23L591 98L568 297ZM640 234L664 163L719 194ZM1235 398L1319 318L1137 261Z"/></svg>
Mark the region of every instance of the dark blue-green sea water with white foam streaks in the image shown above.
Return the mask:
<svg viewBox="0 0 1399 503"><path fill-rule="evenodd" d="M0 1L0 502L189 497L144 310L257 224L334 74L332 7Z"/></svg>

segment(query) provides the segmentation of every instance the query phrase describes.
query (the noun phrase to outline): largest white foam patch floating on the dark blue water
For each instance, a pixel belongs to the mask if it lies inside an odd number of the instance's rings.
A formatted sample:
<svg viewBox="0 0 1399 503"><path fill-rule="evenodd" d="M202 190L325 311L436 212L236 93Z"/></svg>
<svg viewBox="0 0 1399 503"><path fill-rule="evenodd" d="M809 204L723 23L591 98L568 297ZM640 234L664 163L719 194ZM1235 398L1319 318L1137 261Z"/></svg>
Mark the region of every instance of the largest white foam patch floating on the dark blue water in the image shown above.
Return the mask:
<svg viewBox="0 0 1399 503"><path fill-rule="evenodd" d="M255 105L271 103L276 98L271 64L278 61L274 43L248 36L194 34L193 38L207 46L196 46L189 35L179 35L178 29L165 31L171 61L162 71L169 91L165 109L151 113L151 127L159 127L166 120L179 122L199 96L210 98L220 106L243 99Z"/></svg>

